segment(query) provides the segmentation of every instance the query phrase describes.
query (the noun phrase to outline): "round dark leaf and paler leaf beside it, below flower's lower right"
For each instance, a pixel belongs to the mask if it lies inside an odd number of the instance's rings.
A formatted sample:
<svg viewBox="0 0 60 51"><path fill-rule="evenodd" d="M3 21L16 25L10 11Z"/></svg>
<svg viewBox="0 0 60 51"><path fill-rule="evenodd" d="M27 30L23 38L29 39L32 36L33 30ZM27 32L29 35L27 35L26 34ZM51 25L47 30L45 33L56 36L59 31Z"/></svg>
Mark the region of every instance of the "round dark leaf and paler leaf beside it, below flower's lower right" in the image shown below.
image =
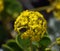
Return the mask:
<svg viewBox="0 0 60 51"><path fill-rule="evenodd" d="M33 48L38 49L39 51L45 51L45 48L47 48L51 44L51 40L49 37L43 37L39 42L33 42Z"/></svg>

